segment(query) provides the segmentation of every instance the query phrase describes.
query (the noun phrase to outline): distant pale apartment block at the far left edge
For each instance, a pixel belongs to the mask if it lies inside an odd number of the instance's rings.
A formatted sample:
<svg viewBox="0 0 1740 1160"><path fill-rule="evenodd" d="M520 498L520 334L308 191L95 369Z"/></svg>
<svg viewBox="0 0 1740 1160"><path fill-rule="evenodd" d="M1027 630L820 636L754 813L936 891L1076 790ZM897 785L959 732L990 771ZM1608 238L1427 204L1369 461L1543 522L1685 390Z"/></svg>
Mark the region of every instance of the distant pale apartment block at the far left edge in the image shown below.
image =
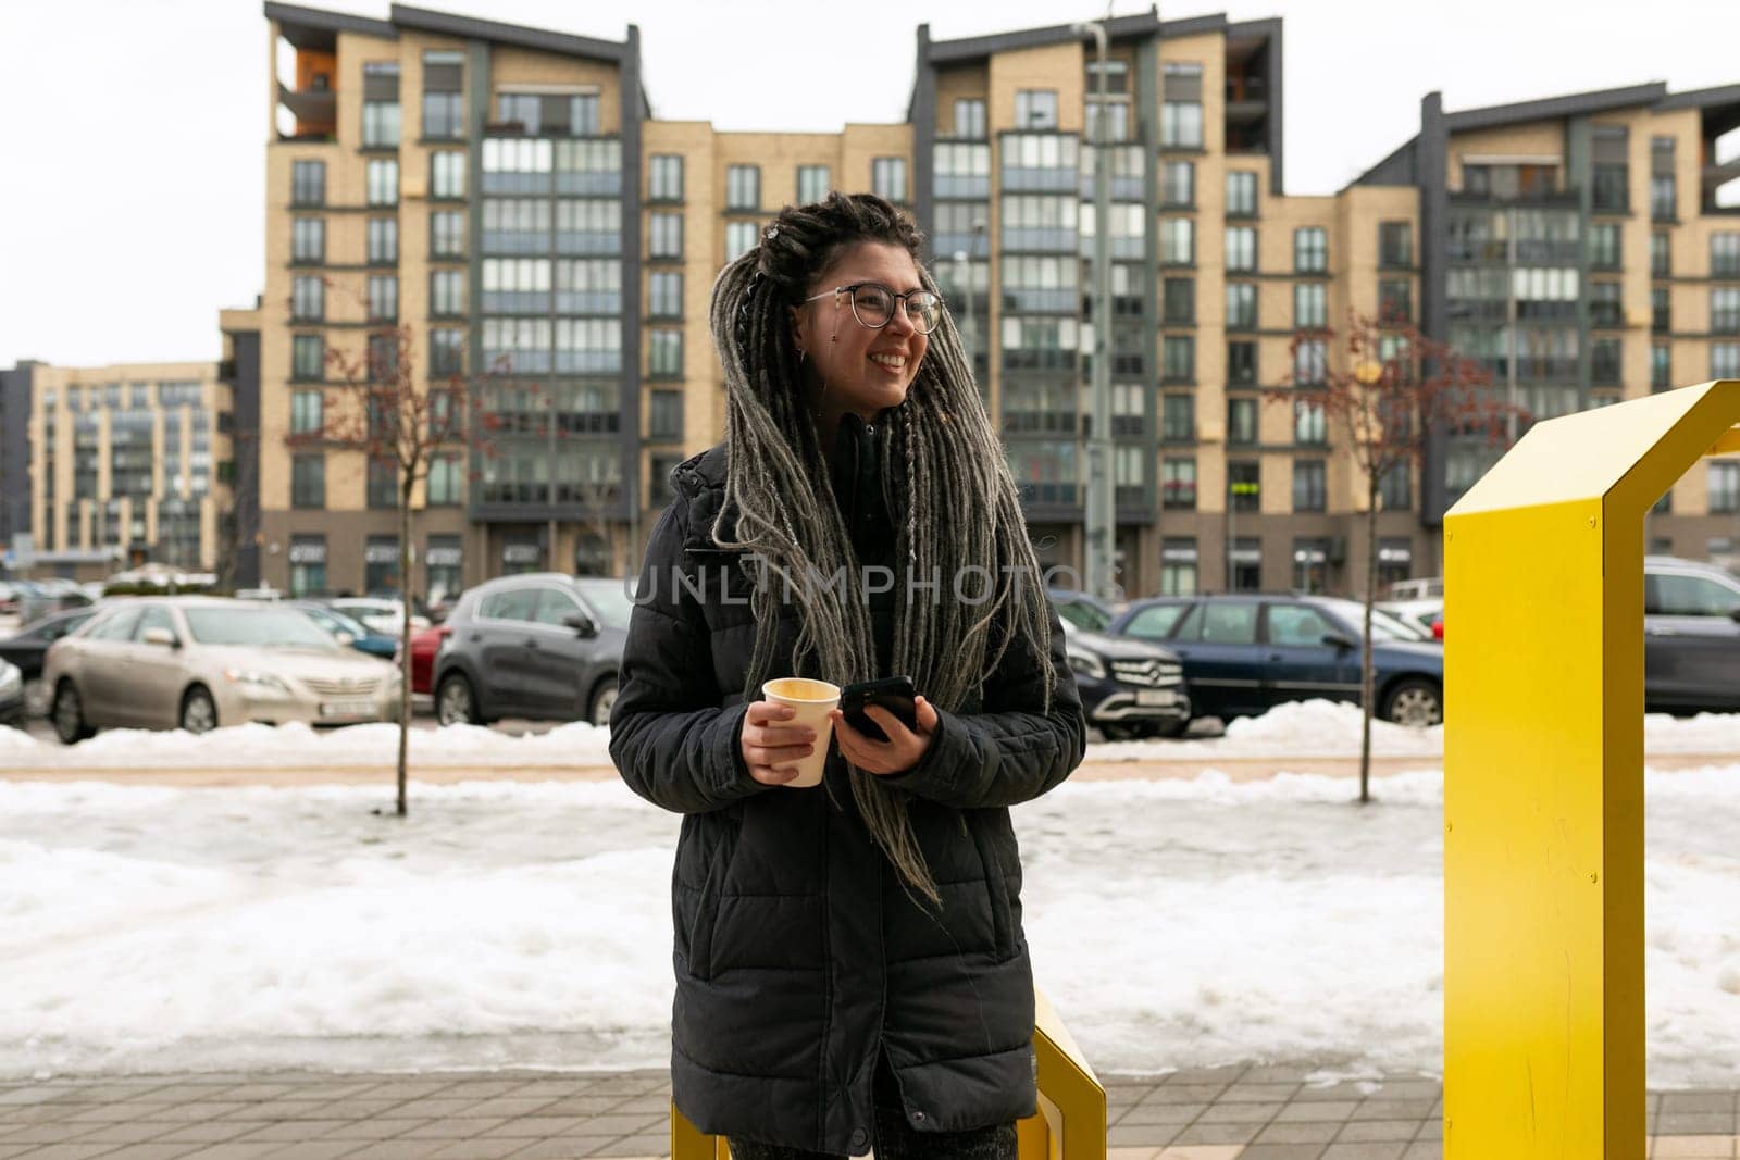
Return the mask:
<svg viewBox="0 0 1740 1160"><path fill-rule="evenodd" d="M101 579L127 563L214 572L231 496L230 398L211 362L5 372L10 565Z"/></svg>

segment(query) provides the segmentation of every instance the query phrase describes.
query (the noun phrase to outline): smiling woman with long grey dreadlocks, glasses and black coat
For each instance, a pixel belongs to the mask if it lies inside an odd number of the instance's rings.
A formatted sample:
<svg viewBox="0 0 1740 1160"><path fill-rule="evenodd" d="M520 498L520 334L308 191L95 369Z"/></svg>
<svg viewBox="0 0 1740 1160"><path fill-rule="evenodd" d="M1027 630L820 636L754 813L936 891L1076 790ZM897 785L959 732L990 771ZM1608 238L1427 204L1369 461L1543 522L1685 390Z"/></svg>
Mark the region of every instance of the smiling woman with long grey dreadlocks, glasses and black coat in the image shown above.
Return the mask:
<svg viewBox="0 0 1740 1160"><path fill-rule="evenodd" d="M1034 981L1009 805L1086 727L960 337L882 198L786 207L713 285L726 442L672 473L611 757L682 814L672 1089L738 1160L1016 1155ZM846 579L832 583L830 577ZM917 725L776 677L908 675Z"/></svg>

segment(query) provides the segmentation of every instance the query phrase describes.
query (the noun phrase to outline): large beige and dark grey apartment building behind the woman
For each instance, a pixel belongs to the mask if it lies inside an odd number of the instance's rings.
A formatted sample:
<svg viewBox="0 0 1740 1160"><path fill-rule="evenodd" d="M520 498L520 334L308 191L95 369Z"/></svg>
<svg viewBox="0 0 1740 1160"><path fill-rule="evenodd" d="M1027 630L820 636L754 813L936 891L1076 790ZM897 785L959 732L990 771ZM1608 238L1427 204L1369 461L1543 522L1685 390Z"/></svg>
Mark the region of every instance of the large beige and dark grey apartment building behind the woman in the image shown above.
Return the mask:
<svg viewBox="0 0 1740 1160"><path fill-rule="evenodd" d="M875 190L926 230L1047 562L1082 558L1086 384L1110 329L1133 595L1357 590L1352 459L1321 412L1265 393L1338 365L1333 343L1298 365L1289 348L1348 308L1413 318L1536 416L1740 376L1740 214L1716 195L1740 177L1717 157L1740 87L1449 113L1432 94L1420 134L1361 179L1291 197L1277 19L1114 17L1103 106L1093 42L1068 26L920 26L907 122L740 134L651 118L633 28L614 42L404 5L264 10L268 273L238 334L258 336L259 576L298 591L398 584L390 473L310 438L334 405L327 351L360 355L397 322L425 386L465 374L491 431L418 489L407 586L632 567L670 468L724 431L717 270L781 205L830 188ZM1115 137L1107 223L1098 118ZM1088 261L1100 228L1107 320ZM1385 480L1382 579L1439 569L1442 511L1491 454L1439 435L1422 471ZM1681 480L1653 546L1731 555L1737 471Z"/></svg>

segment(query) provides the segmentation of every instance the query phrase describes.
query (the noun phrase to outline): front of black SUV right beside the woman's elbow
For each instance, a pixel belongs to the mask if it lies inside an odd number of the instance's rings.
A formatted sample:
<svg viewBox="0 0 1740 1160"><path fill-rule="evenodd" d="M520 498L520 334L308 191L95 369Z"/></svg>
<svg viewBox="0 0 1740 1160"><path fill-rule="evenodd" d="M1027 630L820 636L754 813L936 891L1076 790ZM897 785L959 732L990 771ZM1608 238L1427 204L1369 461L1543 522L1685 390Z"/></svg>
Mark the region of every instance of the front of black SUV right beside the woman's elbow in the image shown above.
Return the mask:
<svg viewBox="0 0 1740 1160"><path fill-rule="evenodd" d="M1185 670L1171 650L1074 621L1063 621L1063 637L1082 711L1107 741L1176 737L1190 723Z"/></svg>

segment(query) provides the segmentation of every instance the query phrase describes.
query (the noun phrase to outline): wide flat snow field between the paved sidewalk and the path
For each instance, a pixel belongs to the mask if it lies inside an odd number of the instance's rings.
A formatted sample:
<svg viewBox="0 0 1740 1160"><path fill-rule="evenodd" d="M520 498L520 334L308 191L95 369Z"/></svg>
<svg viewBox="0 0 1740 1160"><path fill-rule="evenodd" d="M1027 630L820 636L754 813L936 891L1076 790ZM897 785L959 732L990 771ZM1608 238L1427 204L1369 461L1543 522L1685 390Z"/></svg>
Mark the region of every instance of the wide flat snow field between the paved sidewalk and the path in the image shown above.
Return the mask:
<svg viewBox="0 0 1740 1160"><path fill-rule="evenodd" d="M1081 783L1016 810L1101 1073L1441 1068L1442 777ZM1733 1083L1740 765L1648 774L1650 1082ZM619 783L0 783L0 1077L668 1061L679 819Z"/></svg>

